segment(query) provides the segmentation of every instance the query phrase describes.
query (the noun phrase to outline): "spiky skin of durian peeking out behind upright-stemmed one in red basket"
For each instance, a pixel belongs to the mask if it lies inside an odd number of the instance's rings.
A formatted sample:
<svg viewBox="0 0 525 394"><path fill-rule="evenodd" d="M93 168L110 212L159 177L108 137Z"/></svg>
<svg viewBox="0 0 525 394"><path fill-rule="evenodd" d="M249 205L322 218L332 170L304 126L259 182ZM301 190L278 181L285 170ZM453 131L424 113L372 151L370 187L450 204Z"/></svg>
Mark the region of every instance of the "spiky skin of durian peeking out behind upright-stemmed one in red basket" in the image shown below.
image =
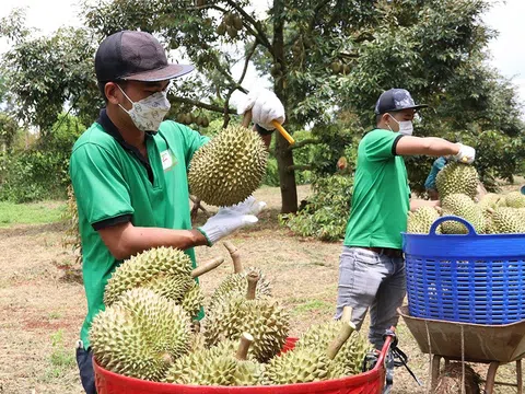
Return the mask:
<svg viewBox="0 0 525 394"><path fill-rule="evenodd" d="M217 287L213 294L210 297L207 310L213 313L218 305L228 302L230 299L244 296L248 289L247 276L249 273L257 273L259 280L257 281L256 299L264 299L271 297L271 285L266 276L259 268L248 267L242 273L230 274Z"/></svg>

